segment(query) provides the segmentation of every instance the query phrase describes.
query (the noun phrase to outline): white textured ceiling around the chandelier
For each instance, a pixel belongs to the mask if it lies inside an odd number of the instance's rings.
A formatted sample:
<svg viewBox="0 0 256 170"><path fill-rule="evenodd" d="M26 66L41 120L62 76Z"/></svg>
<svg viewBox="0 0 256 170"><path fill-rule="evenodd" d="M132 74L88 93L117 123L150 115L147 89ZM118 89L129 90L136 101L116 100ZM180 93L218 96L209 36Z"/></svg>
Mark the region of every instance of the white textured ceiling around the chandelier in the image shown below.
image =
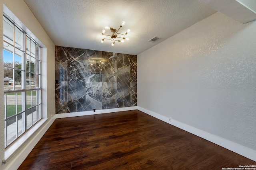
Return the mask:
<svg viewBox="0 0 256 170"><path fill-rule="evenodd" d="M55 45L134 55L216 12L198 0L24 1ZM120 33L130 29L130 40L113 47L111 41L101 43L102 29L118 29L122 21ZM160 39L148 42L155 36Z"/></svg>

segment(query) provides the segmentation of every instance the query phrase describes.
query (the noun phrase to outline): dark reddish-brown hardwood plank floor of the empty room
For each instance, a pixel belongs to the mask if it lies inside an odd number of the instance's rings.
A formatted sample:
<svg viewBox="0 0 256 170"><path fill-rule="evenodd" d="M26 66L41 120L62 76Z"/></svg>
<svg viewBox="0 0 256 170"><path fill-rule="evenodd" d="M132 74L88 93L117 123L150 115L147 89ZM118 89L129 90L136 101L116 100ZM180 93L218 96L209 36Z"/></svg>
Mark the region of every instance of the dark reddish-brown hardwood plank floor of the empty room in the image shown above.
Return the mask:
<svg viewBox="0 0 256 170"><path fill-rule="evenodd" d="M56 119L19 170L221 170L255 164L134 110Z"/></svg>

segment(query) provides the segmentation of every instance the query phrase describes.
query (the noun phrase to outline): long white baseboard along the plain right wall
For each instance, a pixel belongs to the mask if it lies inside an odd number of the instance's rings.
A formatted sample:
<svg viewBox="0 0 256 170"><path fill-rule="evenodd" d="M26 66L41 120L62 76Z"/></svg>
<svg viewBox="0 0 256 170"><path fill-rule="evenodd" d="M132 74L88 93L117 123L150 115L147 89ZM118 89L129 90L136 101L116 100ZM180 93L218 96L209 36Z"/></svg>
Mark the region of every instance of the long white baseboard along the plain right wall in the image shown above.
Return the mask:
<svg viewBox="0 0 256 170"><path fill-rule="evenodd" d="M190 125L186 125L186 124L181 123L179 121L176 121L174 119L172 119L172 121L169 121L168 117L160 115L160 114L155 113L153 111L144 109L142 107L138 107L138 110L140 110L140 111L142 111L142 112L144 112L148 115L151 115L153 117L156 117L157 119L160 119L160 120L162 120L166 123L174 125L174 126L180 128L180 129L183 129L184 131L187 131L187 132L192 133L196 136L199 136L203 139L206 139L207 141L215 143L216 145L219 145L219 146L224 147L228 150L236 152L237 154L240 154L240 155L242 155L246 158L249 158L251 160L256 161L256 150L250 149L248 147L244 147L243 145L240 145L238 143L234 143L234 142L229 141L227 139L224 139L222 137L218 137L218 136L213 135L211 133L202 131L202 130L197 129L195 127L192 127Z"/></svg>

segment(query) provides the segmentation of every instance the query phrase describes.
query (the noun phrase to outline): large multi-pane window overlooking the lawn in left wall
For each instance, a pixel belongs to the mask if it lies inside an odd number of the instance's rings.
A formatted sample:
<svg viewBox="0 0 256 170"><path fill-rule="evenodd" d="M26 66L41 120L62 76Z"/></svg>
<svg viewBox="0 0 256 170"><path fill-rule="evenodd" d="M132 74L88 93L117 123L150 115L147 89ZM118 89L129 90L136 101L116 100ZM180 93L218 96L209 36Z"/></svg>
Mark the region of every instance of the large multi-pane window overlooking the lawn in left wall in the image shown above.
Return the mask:
<svg viewBox="0 0 256 170"><path fill-rule="evenodd" d="M4 17L5 147L42 118L41 91L41 47Z"/></svg>

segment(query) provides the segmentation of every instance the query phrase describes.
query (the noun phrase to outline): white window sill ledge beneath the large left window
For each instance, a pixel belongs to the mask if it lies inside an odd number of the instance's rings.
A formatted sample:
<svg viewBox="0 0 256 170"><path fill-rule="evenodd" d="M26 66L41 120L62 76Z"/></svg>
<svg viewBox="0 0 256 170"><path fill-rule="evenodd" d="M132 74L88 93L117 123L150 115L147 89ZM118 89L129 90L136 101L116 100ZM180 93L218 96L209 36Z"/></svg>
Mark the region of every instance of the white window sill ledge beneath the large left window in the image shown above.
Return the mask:
<svg viewBox="0 0 256 170"><path fill-rule="evenodd" d="M32 135L47 121L48 118L43 118L31 127L26 133L21 135L16 141L4 150L4 160L8 160L20 147L22 147Z"/></svg>

